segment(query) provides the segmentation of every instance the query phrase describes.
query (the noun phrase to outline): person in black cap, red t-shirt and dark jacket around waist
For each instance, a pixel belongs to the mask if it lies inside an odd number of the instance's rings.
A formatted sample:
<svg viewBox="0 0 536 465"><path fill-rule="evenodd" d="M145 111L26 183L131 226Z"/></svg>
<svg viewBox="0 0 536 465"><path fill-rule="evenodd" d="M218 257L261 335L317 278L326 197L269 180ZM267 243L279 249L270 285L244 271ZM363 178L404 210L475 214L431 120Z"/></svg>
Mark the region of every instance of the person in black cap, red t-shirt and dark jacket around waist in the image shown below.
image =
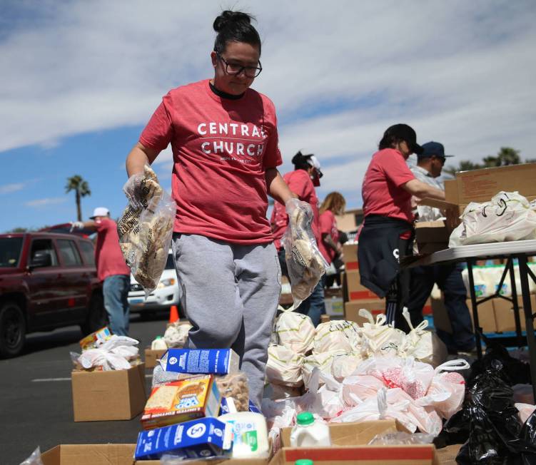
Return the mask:
<svg viewBox="0 0 536 465"><path fill-rule="evenodd" d="M406 160L421 153L417 135L407 124L395 124L383 134L363 180L365 220L358 238L361 284L387 297L387 322L408 330L402 317L408 300L409 275L399 259L411 255L413 213L411 198L445 199L442 190L415 179Z"/></svg>

